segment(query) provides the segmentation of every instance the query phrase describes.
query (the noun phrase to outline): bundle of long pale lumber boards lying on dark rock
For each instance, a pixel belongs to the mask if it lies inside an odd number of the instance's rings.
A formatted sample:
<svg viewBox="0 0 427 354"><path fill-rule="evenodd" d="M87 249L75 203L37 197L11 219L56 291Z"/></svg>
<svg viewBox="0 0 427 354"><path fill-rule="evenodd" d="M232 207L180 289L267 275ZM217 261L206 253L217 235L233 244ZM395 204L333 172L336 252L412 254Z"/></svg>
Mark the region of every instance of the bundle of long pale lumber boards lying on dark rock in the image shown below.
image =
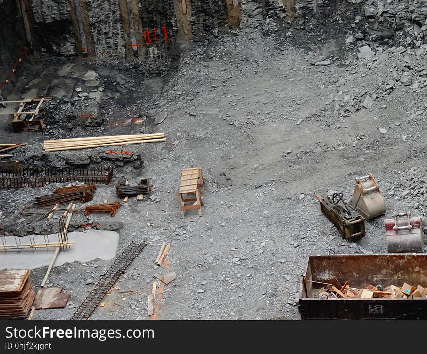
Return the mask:
<svg viewBox="0 0 427 354"><path fill-rule="evenodd" d="M87 149L91 147L142 144L166 141L163 133L136 134L136 135L112 135L88 138L70 138L59 140L45 140L43 148L45 151L63 151Z"/></svg>

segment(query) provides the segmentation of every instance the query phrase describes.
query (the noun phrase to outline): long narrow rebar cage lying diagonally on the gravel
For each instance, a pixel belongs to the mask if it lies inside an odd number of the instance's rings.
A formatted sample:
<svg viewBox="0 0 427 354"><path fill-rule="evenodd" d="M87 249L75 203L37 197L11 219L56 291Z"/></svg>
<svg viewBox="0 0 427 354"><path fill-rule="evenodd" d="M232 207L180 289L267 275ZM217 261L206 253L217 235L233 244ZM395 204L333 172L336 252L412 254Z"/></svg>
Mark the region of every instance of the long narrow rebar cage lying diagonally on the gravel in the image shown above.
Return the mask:
<svg viewBox="0 0 427 354"><path fill-rule="evenodd" d="M115 258L107 272L102 276L89 295L87 295L83 300L82 305L77 308L76 312L71 317L71 320L87 320L95 311L108 290L113 287L119 276L123 274L126 268L128 268L132 261L146 246L147 242L131 242L124 249L123 253Z"/></svg>

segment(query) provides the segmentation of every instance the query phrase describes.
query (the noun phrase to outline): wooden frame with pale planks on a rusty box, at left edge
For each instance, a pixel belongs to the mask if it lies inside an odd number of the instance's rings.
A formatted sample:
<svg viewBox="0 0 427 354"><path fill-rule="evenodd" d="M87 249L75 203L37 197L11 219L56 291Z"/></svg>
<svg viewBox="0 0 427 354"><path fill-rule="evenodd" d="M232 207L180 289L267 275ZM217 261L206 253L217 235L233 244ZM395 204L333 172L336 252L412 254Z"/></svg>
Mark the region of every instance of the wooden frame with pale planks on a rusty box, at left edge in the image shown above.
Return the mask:
<svg viewBox="0 0 427 354"><path fill-rule="evenodd" d="M43 102L48 101L50 99L51 98L29 98L23 99L21 101L2 101L0 103L4 105L19 103L19 109L17 112L0 112L0 115L13 115L12 127L16 133L20 133L23 131L43 131L45 129L43 119L34 118L38 114ZM36 102L37 106L34 111L24 111L24 108L27 104ZM29 119L26 119L27 115L30 115Z"/></svg>

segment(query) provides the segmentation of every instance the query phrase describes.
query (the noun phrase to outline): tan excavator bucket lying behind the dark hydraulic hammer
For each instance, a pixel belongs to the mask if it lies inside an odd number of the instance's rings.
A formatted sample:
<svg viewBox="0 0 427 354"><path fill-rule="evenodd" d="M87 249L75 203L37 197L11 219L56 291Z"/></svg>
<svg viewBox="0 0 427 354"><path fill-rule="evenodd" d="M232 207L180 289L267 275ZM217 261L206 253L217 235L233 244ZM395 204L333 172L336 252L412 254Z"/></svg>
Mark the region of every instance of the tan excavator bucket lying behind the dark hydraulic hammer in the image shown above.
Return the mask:
<svg viewBox="0 0 427 354"><path fill-rule="evenodd" d="M386 211L384 198L379 193L379 185L372 173L356 178L353 197L349 202L365 219L373 219Z"/></svg>

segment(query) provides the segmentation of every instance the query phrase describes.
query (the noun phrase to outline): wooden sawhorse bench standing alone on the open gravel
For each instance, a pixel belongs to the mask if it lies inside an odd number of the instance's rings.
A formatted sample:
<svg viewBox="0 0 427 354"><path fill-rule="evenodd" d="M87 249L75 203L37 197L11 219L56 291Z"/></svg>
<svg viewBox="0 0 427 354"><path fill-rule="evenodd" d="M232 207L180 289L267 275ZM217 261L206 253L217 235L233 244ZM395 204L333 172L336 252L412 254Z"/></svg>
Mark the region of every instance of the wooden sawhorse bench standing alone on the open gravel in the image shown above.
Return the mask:
<svg viewBox="0 0 427 354"><path fill-rule="evenodd" d="M198 216L202 216L201 206L205 203L203 203L201 193L204 191L204 183L201 168L186 168L181 171L181 184L178 191L181 218L185 217L185 210L194 209L198 209Z"/></svg>

